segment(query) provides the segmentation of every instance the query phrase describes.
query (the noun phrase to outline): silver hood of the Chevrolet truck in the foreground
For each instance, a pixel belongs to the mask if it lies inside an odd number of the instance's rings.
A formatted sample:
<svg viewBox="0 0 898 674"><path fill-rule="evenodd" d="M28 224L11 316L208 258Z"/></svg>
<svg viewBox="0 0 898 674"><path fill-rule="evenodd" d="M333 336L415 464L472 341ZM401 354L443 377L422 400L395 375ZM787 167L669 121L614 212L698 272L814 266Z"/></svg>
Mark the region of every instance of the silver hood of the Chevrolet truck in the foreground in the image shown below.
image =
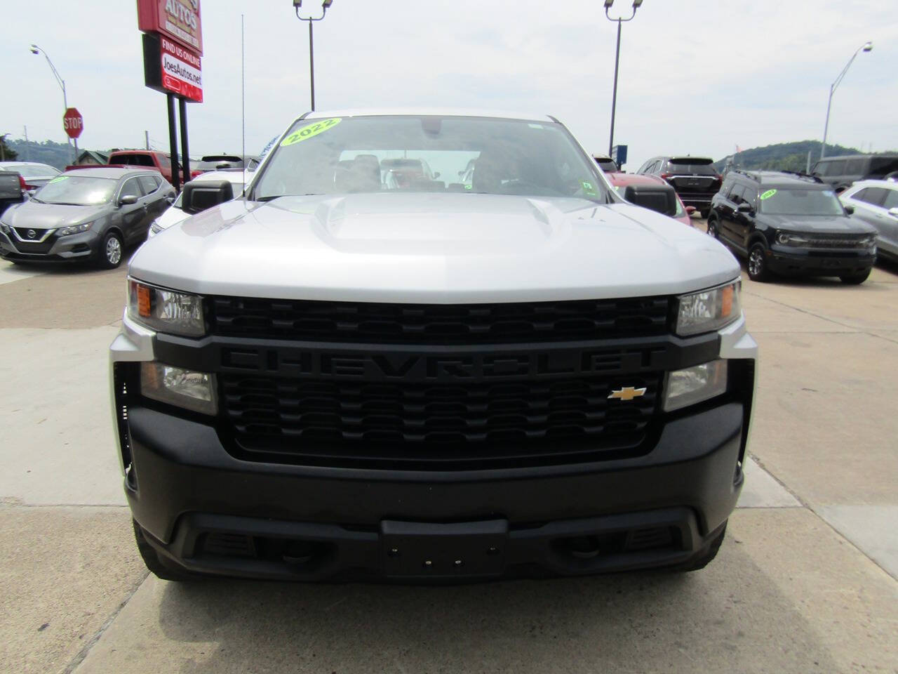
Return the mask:
<svg viewBox="0 0 898 674"><path fill-rule="evenodd" d="M676 294L739 265L629 204L380 193L229 201L147 241L130 273L203 295L451 304Z"/></svg>

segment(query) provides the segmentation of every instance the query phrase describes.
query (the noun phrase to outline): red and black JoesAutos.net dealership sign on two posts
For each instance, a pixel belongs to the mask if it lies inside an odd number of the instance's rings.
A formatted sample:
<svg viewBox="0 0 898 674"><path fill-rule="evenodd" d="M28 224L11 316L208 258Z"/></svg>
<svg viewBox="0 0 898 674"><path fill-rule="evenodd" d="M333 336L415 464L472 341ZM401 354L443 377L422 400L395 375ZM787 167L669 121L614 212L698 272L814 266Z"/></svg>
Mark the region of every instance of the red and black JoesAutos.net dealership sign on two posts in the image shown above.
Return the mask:
<svg viewBox="0 0 898 674"><path fill-rule="evenodd" d="M186 102L203 102L202 23L199 0L137 0L137 28L144 31L144 82L166 94L172 166L177 167L178 139L174 99L180 108L180 154L183 182L190 180ZM179 188L178 171L172 182Z"/></svg>

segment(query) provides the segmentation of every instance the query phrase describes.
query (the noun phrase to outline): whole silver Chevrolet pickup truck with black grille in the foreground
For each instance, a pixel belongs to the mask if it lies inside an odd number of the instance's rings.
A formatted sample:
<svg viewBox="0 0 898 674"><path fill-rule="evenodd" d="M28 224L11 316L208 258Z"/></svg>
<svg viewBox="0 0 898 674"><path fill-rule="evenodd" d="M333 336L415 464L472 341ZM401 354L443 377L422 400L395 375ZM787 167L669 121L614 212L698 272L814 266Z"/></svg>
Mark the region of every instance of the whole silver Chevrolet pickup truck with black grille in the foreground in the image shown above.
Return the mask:
<svg viewBox="0 0 898 674"><path fill-rule="evenodd" d="M431 173L385 182L393 159ZM146 242L129 272L119 457L163 578L717 554L757 355L739 265L622 200L552 117L304 115L242 198Z"/></svg>

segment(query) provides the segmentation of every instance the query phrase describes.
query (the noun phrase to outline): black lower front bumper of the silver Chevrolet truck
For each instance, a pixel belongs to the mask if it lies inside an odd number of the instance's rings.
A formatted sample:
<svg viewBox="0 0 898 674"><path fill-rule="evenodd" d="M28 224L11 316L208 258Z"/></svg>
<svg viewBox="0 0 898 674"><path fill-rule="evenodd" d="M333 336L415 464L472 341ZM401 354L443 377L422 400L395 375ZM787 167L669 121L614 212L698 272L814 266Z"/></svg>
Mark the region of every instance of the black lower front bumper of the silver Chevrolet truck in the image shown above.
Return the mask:
<svg viewBox="0 0 898 674"><path fill-rule="evenodd" d="M643 456L435 472L244 461L212 426L136 405L126 492L151 545L194 572L427 581L674 565L735 508L744 419L743 404L707 404Z"/></svg>

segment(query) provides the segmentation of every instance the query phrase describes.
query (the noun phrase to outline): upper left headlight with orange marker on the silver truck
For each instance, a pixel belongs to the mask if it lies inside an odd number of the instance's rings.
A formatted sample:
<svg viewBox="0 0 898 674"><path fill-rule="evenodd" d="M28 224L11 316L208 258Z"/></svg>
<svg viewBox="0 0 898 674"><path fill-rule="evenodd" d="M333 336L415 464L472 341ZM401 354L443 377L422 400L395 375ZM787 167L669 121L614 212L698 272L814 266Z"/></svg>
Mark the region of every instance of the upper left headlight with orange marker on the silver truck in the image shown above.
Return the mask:
<svg viewBox="0 0 898 674"><path fill-rule="evenodd" d="M203 298L128 279L128 317L160 333L206 334Z"/></svg>

